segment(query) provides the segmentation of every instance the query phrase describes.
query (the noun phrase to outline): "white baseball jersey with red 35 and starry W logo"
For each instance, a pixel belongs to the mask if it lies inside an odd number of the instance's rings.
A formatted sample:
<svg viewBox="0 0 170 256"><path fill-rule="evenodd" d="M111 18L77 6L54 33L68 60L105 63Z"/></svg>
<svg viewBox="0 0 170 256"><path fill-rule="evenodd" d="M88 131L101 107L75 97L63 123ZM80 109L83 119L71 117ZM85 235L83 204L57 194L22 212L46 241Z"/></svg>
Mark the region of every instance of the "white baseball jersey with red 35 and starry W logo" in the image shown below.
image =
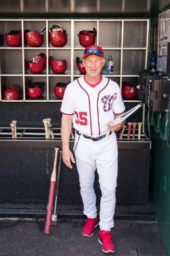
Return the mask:
<svg viewBox="0 0 170 256"><path fill-rule="evenodd" d="M61 112L73 115L73 127L87 136L101 136L108 132L107 125L125 111L119 85L102 77L96 87L91 87L84 77L68 84Z"/></svg>

